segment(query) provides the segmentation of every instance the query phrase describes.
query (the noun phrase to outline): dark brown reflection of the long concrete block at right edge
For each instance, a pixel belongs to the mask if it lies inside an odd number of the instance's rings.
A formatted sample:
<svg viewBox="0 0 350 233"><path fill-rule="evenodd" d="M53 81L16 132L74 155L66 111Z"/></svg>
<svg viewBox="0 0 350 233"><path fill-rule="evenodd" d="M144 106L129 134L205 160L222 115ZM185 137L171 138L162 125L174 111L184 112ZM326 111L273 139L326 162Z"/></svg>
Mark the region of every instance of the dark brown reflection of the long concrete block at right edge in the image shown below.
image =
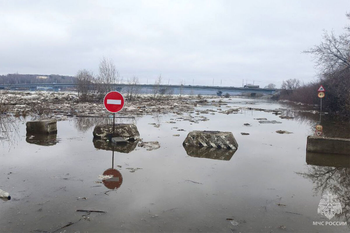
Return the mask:
<svg viewBox="0 0 350 233"><path fill-rule="evenodd" d="M350 167L350 156L346 154L306 152L306 163L317 166Z"/></svg>

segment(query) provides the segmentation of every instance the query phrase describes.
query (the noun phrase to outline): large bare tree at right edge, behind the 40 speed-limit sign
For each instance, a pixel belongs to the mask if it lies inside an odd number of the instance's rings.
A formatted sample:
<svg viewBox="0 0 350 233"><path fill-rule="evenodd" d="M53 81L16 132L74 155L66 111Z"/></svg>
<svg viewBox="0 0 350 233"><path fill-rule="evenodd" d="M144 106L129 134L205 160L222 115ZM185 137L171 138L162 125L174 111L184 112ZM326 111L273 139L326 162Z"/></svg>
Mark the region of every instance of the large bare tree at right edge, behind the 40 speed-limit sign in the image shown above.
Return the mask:
<svg viewBox="0 0 350 233"><path fill-rule="evenodd" d="M350 13L346 14L350 20ZM321 44L303 51L311 53L315 60L320 78L318 85L322 84L327 90L324 99L325 108L350 115L350 25L345 31L335 36L331 31L323 32Z"/></svg>

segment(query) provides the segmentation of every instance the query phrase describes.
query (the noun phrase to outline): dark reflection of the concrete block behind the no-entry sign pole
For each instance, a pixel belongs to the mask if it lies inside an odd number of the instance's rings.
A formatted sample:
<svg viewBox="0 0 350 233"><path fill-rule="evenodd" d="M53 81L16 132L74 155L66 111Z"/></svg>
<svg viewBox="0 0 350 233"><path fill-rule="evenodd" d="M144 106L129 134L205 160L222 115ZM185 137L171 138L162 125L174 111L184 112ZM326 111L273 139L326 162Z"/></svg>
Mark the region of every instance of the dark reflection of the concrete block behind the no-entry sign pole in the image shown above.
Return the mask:
<svg viewBox="0 0 350 233"><path fill-rule="evenodd" d="M96 149L106 150L106 151L117 151L120 153L130 153L133 150L135 150L138 140L136 141L129 141L127 144L114 144L110 141L106 141L104 139L100 138L94 138L92 139L93 146Z"/></svg>

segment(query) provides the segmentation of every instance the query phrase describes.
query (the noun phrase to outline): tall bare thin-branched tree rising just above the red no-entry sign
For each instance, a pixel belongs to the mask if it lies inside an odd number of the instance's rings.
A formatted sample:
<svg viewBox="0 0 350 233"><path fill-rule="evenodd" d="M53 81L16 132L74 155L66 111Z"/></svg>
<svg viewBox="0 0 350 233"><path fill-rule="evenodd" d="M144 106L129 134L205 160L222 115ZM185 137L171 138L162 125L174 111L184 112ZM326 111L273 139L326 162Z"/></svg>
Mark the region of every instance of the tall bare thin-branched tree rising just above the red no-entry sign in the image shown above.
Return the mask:
<svg viewBox="0 0 350 233"><path fill-rule="evenodd" d="M114 90L114 84L119 82L119 72L112 58L103 56L99 64L99 78L104 86L105 93Z"/></svg>

